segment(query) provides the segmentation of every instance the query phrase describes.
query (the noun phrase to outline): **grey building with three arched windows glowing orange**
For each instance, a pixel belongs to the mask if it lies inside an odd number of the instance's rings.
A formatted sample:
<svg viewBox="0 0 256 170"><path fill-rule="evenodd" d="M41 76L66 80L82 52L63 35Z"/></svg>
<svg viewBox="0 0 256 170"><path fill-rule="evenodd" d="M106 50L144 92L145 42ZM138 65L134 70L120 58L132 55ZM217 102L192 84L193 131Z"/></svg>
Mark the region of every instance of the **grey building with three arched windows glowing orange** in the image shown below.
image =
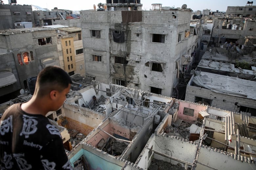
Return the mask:
<svg viewBox="0 0 256 170"><path fill-rule="evenodd" d="M47 65L59 66L53 28L1 30L0 44L0 56L5 63L1 65L0 96L20 89L29 91L28 78L37 76Z"/></svg>

